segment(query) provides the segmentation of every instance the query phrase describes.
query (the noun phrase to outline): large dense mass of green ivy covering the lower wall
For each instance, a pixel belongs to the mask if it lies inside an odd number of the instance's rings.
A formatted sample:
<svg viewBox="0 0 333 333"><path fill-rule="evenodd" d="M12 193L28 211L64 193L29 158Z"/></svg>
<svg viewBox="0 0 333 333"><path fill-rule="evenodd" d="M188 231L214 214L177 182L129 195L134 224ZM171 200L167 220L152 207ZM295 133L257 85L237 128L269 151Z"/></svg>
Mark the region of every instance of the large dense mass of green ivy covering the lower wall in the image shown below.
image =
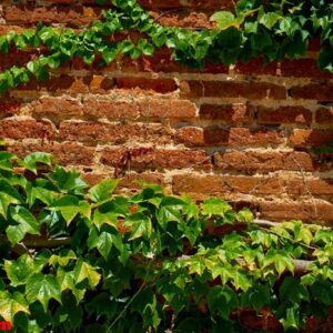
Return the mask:
<svg viewBox="0 0 333 333"><path fill-rule="evenodd" d="M332 230L117 184L0 152L0 320L16 332L241 332L242 309L296 330L327 315Z"/></svg>

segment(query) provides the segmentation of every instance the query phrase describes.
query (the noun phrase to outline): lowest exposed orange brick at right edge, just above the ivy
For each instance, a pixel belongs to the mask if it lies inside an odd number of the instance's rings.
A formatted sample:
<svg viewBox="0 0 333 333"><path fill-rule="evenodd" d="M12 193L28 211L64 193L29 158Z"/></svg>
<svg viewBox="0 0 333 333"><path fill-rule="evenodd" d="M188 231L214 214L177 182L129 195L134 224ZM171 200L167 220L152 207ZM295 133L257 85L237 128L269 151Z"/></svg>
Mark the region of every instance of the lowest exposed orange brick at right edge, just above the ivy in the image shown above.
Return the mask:
<svg viewBox="0 0 333 333"><path fill-rule="evenodd" d="M303 220L310 222L325 221L333 222L333 204L322 200L302 202L270 201L260 202L261 219L271 221Z"/></svg>

